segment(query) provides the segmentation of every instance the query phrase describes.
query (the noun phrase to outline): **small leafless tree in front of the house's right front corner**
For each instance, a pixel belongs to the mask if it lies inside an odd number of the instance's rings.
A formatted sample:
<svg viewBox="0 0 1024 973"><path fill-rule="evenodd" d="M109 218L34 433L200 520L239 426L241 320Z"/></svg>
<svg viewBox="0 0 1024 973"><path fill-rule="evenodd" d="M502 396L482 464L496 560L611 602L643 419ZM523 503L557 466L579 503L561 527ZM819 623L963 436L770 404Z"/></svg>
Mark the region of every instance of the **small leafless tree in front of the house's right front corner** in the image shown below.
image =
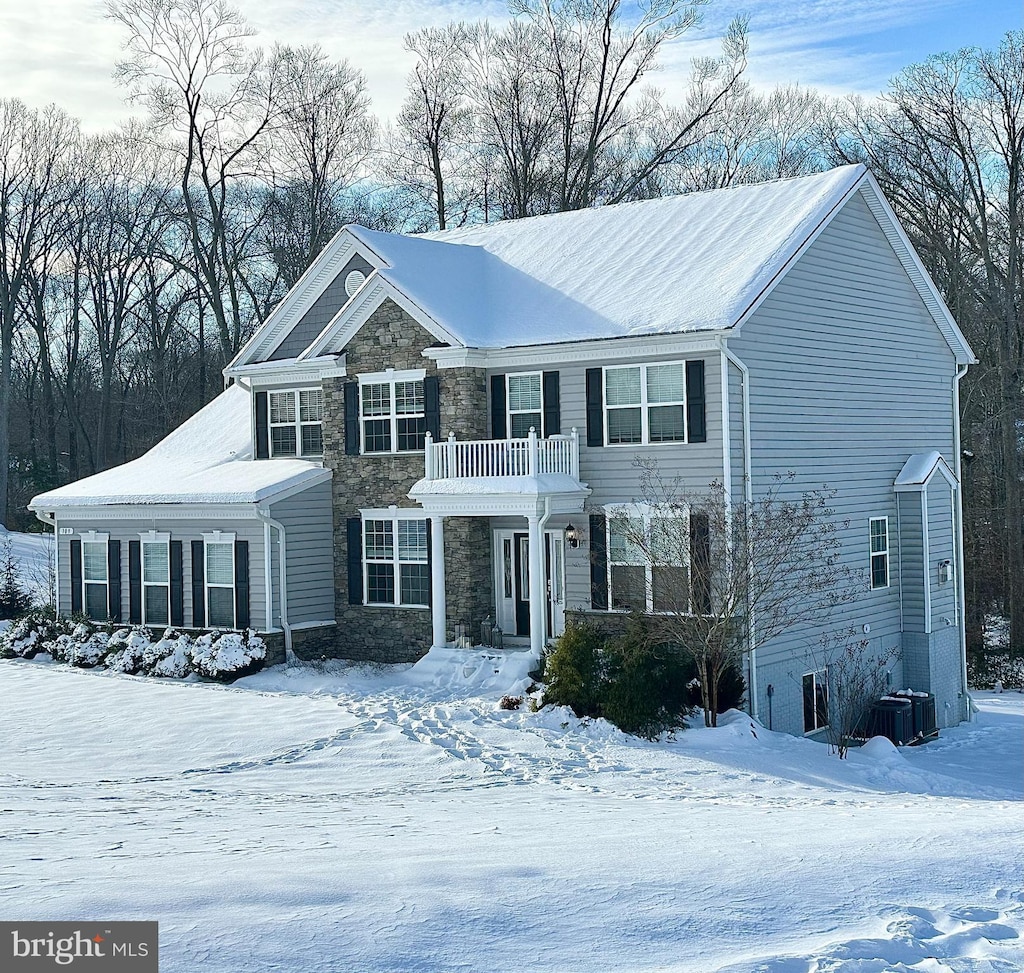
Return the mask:
<svg viewBox="0 0 1024 973"><path fill-rule="evenodd" d="M612 604L653 612L659 637L693 659L705 724L716 726L723 674L742 671L755 640L826 622L855 597L855 573L840 556L848 522L830 506L835 491L796 493L794 473L745 501L719 481L686 489L655 461L634 465L637 502L609 518Z"/></svg>

